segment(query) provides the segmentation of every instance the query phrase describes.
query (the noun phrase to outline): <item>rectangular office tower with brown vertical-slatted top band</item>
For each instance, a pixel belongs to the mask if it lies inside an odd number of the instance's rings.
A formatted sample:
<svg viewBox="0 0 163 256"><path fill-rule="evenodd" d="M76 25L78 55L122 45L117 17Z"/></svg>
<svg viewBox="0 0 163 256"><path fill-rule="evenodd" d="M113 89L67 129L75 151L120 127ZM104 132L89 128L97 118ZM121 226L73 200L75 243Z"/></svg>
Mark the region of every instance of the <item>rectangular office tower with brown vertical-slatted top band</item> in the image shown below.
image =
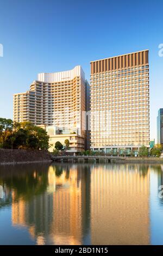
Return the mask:
<svg viewBox="0 0 163 256"><path fill-rule="evenodd" d="M148 50L92 61L90 91L92 150L149 147Z"/></svg>

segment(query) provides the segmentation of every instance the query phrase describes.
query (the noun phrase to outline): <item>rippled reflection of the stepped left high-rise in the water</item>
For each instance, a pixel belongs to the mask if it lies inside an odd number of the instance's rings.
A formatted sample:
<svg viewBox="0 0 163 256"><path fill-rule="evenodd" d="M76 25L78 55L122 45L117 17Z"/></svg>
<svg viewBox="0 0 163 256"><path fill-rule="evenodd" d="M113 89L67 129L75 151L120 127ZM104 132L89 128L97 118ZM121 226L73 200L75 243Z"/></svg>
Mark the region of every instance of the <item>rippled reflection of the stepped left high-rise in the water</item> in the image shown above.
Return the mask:
<svg viewBox="0 0 163 256"><path fill-rule="evenodd" d="M84 240L90 243L89 167L52 165L45 192L29 201L15 200L13 192L12 199L12 224L29 227L37 244L81 245Z"/></svg>

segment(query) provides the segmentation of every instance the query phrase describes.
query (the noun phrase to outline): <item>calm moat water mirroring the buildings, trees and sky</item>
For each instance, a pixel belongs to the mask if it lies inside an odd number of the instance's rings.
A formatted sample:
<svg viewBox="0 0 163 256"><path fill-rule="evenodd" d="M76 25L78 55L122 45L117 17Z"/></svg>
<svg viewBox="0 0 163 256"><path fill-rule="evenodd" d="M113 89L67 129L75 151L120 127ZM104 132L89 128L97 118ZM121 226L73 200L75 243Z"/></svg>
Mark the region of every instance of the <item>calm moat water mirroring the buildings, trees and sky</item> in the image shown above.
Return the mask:
<svg viewBox="0 0 163 256"><path fill-rule="evenodd" d="M163 165L0 166L1 245L162 245Z"/></svg>

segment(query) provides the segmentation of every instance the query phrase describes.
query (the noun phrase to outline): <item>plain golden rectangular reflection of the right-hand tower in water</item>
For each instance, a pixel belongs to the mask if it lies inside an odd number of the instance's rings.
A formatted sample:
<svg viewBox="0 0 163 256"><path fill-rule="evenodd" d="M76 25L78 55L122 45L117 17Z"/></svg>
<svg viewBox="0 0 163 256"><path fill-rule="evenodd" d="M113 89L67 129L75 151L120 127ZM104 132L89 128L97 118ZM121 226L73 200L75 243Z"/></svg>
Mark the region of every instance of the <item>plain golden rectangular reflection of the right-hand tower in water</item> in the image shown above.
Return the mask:
<svg viewBox="0 0 163 256"><path fill-rule="evenodd" d="M91 172L91 242L149 243L148 166L94 166Z"/></svg>

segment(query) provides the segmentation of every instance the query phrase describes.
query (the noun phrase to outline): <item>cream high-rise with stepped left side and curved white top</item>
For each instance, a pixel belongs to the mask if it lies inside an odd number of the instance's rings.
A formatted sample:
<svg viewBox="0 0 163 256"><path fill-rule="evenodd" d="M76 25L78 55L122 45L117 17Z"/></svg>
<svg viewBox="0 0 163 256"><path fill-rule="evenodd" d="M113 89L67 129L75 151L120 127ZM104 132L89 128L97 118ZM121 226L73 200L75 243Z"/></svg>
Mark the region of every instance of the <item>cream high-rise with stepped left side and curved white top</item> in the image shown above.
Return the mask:
<svg viewBox="0 0 163 256"><path fill-rule="evenodd" d="M60 136L61 142L69 139L71 148L82 150L86 125L83 111L86 111L87 100L89 83L81 66L68 71L40 73L29 91L14 94L14 121L31 121L45 127L52 136L53 147L58 135L73 134L73 138ZM77 136L82 137L78 140Z"/></svg>

